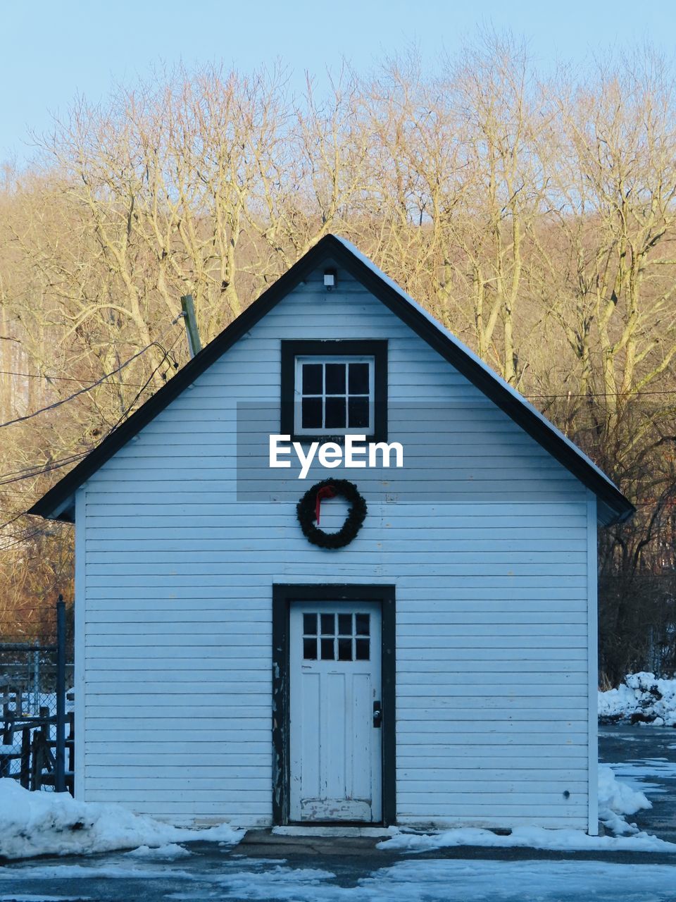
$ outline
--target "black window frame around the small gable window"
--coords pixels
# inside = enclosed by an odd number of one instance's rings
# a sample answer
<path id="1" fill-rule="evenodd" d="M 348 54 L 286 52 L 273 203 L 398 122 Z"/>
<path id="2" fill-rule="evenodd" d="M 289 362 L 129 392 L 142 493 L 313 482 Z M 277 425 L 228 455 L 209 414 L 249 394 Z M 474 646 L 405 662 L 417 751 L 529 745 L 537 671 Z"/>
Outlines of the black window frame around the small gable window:
<path id="1" fill-rule="evenodd" d="M 345 433 L 335 435 L 320 433 L 298 434 L 294 419 L 296 392 L 296 358 L 317 357 L 318 362 L 329 362 L 331 357 L 372 357 L 373 358 L 373 432 L 367 435 L 370 442 L 388 440 L 388 342 L 386 339 L 336 339 L 330 341 L 282 341 L 281 343 L 281 405 L 279 433 L 290 436 L 291 441 L 336 442 L 342 445 Z"/>

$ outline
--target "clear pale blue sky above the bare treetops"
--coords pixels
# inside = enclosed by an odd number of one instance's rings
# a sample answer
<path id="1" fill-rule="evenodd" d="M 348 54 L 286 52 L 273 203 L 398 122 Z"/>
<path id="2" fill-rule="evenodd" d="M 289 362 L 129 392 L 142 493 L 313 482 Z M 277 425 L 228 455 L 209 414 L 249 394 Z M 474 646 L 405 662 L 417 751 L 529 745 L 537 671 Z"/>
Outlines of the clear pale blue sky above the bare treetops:
<path id="1" fill-rule="evenodd" d="M 671 54 L 666 0 L 0 0 L 0 161 L 30 156 L 29 128 L 49 127 L 76 93 L 105 97 L 153 63 L 223 60 L 242 70 L 277 58 L 321 78 L 342 58 L 365 71 L 416 44 L 430 68 L 480 25 L 524 36 L 534 59 L 582 60 L 649 41 Z"/>

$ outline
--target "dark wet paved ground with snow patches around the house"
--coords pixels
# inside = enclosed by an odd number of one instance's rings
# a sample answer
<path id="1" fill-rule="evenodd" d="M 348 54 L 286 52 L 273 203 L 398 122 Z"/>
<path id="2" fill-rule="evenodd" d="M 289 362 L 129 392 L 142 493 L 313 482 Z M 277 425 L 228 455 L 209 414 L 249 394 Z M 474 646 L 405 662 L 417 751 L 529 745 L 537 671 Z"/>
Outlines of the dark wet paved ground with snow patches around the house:
<path id="1" fill-rule="evenodd" d="M 635 816 L 676 842 L 676 731 L 606 727 L 601 760 L 647 788 L 653 809 Z M 42 859 L 0 868 L 0 902 L 676 902 L 676 855 L 526 849 L 380 851 L 377 839 L 249 833 L 234 849 L 189 844 L 174 861 L 128 853 Z"/>

